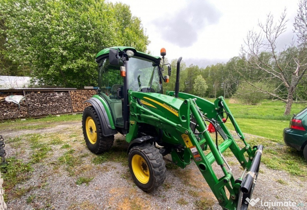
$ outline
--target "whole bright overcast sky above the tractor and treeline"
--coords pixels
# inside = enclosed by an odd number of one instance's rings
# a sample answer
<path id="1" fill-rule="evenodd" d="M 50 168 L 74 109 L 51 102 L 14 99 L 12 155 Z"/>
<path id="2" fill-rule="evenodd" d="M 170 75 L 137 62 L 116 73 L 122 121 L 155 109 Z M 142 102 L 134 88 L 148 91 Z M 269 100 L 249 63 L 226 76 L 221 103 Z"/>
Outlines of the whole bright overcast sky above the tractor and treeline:
<path id="1" fill-rule="evenodd" d="M 238 56 L 249 30 L 259 30 L 271 13 L 278 18 L 286 8 L 287 31 L 278 40 L 280 49 L 293 38 L 298 0 L 201 1 L 201 0 L 109 0 L 130 6 L 141 19 L 151 43 L 148 50 L 160 55 L 166 49 L 171 60 L 183 57 L 187 65 L 200 67 L 227 62 Z"/>

